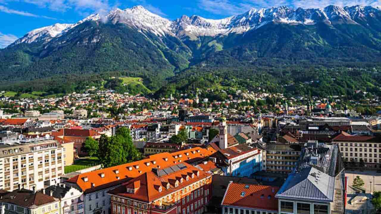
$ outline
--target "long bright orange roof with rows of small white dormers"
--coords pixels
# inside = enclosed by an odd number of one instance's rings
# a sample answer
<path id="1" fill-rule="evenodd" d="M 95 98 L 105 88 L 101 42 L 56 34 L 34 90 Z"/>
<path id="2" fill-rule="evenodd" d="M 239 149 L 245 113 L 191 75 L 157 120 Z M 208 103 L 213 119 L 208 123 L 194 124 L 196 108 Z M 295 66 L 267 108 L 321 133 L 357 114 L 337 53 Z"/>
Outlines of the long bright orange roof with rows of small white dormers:
<path id="1" fill-rule="evenodd" d="M 200 150 L 200 152 L 197 152 Z M 192 149 L 182 150 L 175 153 L 158 153 L 150 155 L 146 159 L 134 161 L 132 163 L 126 163 L 109 168 L 99 169 L 92 172 L 86 172 L 74 176 L 67 180 L 69 183 L 76 183 L 83 191 L 91 192 L 102 185 L 107 185 L 112 182 L 121 182 L 122 179 L 135 178 L 141 176 L 145 172 L 149 172 L 152 168 L 166 168 L 174 164 L 185 162 L 197 157 L 208 157 L 216 151 L 213 149 L 202 149 L 195 147 Z M 186 155 L 188 153 L 188 155 Z M 181 157 L 179 154 L 182 154 Z M 177 158 L 175 158 L 177 155 Z M 118 173 L 117 173 L 118 172 Z M 101 174 L 104 173 L 104 177 Z M 86 181 L 87 179 L 87 181 Z"/>

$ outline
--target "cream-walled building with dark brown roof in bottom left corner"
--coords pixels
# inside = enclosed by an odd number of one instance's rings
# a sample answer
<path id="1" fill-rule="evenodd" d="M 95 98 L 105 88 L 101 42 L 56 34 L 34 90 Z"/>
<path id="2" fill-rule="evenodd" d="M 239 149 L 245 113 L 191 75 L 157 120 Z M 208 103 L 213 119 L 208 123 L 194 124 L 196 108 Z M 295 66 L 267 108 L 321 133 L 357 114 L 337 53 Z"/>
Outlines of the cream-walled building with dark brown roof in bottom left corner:
<path id="1" fill-rule="evenodd" d="M 61 214 L 60 201 L 43 192 L 13 190 L 0 198 L 2 214 Z"/>

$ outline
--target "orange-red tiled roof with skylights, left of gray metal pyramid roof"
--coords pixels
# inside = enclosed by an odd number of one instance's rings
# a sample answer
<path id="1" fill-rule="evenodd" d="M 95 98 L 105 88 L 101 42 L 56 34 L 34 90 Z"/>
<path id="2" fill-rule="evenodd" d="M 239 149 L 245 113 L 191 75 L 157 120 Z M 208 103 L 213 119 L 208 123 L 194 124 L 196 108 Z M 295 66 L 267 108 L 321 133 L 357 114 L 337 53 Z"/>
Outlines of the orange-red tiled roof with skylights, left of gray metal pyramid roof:
<path id="1" fill-rule="evenodd" d="M 279 187 L 231 183 L 222 205 L 278 211 L 278 199 L 275 198 L 278 190 Z M 244 196 L 241 196 L 242 192 L 245 192 Z"/>

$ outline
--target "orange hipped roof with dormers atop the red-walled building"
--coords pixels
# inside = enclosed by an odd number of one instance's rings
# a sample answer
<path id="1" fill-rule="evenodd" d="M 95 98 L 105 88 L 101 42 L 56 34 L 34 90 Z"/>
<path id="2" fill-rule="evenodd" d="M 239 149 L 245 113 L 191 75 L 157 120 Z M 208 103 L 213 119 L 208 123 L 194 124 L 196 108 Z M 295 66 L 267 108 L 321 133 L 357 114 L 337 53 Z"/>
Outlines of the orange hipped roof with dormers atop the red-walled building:
<path id="1" fill-rule="evenodd" d="M 200 171 L 190 164 L 182 164 L 185 168 L 163 176 L 158 176 L 158 174 L 153 171 L 145 172 L 129 180 L 122 186 L 109 191 L 109 193 L 126 198 L 152 202 L 205 178 L 211 179 L 210 174 Z M 208 182 L 210 182 L 210 180 Z M 127 192 L 127 188 L 133 189 L 134 193 Z M 161 188 L 161 190 L 159 190 L 159 188 Z"/>

